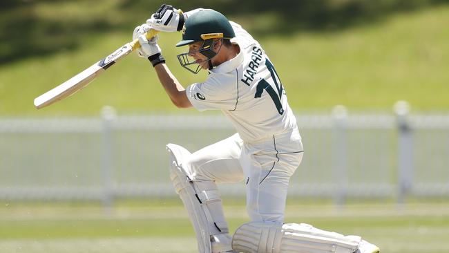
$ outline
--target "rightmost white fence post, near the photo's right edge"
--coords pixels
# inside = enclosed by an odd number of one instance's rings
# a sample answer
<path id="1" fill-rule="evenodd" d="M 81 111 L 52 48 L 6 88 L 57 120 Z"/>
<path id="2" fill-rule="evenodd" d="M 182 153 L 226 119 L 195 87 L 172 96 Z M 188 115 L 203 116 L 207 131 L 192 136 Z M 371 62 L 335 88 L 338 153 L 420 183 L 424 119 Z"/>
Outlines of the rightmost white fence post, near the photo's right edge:
<path id="1" fill-rule="evenodd" d="M 408 122 L 410 104 L 398 101 L 393 106 L 398 127 L 398 196 L 399 205 L 405 203 L 413 181 L 413 139 L 412 128 Z"/>

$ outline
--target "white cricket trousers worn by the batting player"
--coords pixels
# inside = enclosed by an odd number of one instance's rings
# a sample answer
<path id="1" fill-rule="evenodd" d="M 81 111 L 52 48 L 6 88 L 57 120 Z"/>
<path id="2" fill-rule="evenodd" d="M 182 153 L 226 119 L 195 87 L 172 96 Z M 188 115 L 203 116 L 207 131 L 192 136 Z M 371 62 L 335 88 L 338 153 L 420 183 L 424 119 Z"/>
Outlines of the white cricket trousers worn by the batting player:
<path id="1" fill-rule="evenodd" d="M 196 151 L 188 164 L 193 180 L 245 180 L 251 221 L 283 223 L 289 179 L 302 158 L 303 144 L 294 129 L 254 143 L 236 133 Z"/>

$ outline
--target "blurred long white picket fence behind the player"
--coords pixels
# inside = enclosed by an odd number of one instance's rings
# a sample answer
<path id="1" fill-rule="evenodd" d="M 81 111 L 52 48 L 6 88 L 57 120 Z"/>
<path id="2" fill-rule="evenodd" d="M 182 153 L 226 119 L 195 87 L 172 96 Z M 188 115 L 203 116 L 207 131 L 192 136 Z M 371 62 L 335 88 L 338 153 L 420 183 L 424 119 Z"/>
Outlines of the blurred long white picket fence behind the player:
<path id="1" fill-rule="evenodd" d="M 305 154 L 289 194 L 449 196 L 449 114 L 297 115 Z M 222 115 L 0 118 L 0 199 L 174 196 L 165 144 L 195 151 L 233 134 Z M 220 186 L 242 196 L 243 183 Z"/>

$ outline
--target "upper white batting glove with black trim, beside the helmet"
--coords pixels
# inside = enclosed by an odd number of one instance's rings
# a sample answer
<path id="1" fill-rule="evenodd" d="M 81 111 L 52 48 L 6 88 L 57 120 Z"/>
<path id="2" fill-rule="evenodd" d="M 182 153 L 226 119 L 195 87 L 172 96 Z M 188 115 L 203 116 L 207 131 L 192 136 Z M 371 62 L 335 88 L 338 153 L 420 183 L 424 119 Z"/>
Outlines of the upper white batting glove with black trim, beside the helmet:
<path id="1" fill-rule="evenodd" d="M 163 4 L 156 13 L 146 20 L 146 24 L 154 30 L 162 32 L 175 32 L 182 29 L 185 17 L 182 11 Z"/>

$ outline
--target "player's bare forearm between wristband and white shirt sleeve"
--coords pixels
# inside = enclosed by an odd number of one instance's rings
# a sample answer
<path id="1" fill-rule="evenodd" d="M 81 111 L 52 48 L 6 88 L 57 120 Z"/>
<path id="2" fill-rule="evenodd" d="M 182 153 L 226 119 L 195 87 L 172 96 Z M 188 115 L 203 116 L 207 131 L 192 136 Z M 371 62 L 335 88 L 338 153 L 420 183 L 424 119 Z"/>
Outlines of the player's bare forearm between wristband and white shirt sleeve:
<path id="1" fill-rule="evenodd" d="M 169 95 L 171 102 L 178 108 L 189 108 L 192 106 L 191 102 L 187 98 L 186 90 L 178 79 L 171 73 L 169 68 L 165 64 L 157 64 L 154 67 L 157 77 L 159 77 L 160 83 L 165 89 L 167 95 Z"/>

